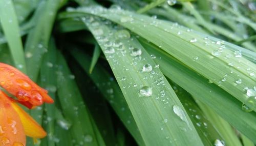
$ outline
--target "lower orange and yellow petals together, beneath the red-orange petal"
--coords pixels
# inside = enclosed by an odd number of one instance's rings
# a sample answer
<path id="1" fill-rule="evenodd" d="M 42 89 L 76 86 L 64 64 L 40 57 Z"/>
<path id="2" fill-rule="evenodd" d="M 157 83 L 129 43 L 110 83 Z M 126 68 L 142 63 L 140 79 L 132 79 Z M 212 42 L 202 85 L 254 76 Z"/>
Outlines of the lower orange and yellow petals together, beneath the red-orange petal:
<path id="1" fill-rule="evenodd" d="M 43 138 L 46 132 L 13 99 L 0 91 L 0 145 L 24 146 L 26 135 Z"/>

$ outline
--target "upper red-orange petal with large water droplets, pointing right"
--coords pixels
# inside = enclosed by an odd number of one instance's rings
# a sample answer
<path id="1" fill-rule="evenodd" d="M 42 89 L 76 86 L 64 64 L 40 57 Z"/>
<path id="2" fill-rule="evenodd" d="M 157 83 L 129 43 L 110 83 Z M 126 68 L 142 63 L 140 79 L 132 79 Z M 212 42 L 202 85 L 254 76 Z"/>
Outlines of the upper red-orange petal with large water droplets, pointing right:
<path id="1" fill-rule="evenodd" d="M 0 85 L 28 108 L 44 102 L 53 103 L 47 90 L 42 89 L 19 70 L 3 63 L 0 63 Z"/>

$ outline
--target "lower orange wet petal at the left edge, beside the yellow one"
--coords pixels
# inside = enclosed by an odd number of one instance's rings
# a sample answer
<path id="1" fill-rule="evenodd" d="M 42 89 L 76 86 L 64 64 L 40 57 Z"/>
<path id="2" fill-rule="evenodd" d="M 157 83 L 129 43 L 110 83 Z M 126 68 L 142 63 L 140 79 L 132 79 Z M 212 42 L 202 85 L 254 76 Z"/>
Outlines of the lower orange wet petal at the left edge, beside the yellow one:
<path id="1" fill-rule="evenodd" d="M 26 145 L 26 136 L 18 113 L 13 109 L 11 100 L 0 91 L 0 145 Z"/>

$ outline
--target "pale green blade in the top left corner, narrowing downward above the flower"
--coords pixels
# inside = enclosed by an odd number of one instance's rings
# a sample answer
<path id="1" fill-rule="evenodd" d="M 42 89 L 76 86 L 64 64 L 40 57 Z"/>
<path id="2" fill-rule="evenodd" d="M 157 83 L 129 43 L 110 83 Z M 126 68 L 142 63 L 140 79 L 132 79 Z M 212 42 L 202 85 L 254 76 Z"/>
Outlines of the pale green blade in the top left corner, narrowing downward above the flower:
<path id="1" fill-rule="evenodd" d="M 5 37 L 8 41 L 10 52 L 12 54 L 14 65 L 20 71 L 26 73 L 22 40 L 19 36 L 17 16 L 11 0 L 0 1 L 0 19 Z"/>

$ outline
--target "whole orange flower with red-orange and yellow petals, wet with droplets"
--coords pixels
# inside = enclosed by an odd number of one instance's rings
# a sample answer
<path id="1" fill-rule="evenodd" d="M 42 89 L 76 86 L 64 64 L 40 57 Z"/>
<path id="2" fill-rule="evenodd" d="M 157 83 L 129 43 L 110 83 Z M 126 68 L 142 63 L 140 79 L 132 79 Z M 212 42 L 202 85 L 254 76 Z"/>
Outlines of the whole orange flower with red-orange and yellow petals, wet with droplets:
<path id="1" fill-rule="evenodd" d="M 0 63 L 0 85 L 17 98 L 14 100 L 0 90 L 0 145 L 25 146 L 26 135 L 33 138 L 45 137 L 47 133 L 44 129 L 16 102 L 28 108 L 44 102 L 53 103 L 48 92 L 22 72 L 3 63 Z"/>

